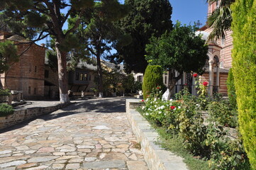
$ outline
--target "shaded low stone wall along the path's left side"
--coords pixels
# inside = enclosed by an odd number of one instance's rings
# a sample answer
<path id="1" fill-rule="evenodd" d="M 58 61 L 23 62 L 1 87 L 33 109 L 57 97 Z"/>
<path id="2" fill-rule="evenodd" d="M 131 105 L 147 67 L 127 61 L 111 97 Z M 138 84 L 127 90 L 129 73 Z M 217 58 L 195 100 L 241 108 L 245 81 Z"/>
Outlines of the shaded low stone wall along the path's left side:
<path id="1" fill-rule="evenodd" d="M 40 115 L 45 115 L 57 111 L 60 108 L 68 106 L 67 104 L 57 104 L 56 106 L 48 107 L 35 107 L 35 108 L 21 108 L 16 109 L 12 115 L 7 115 L 6 117 L 0 117 L 0 130 L 8 128 L 12 125 L 16 125 L 26 120 L 37 118 Z"/>

